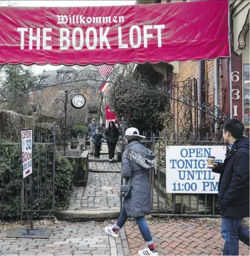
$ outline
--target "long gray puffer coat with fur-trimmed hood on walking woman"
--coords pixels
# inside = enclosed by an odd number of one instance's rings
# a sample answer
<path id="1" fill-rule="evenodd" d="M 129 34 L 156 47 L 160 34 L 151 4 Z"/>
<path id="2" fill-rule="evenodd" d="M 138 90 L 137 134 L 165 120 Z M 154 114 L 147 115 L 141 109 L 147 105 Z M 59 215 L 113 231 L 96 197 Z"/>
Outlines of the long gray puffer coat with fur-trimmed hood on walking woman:
<path id="1" fill-rule="evenodd" d="M 132 166 L 132 168 L 131 168 Z M 121 175 L 128 184 L 131 172 L 131 197 L 124 198 L 126 214 L 141 217 L 151 214 L 150 170 L 155 167 L 155 154 L 138 141 L 130 142 L 122 154 Z"/>

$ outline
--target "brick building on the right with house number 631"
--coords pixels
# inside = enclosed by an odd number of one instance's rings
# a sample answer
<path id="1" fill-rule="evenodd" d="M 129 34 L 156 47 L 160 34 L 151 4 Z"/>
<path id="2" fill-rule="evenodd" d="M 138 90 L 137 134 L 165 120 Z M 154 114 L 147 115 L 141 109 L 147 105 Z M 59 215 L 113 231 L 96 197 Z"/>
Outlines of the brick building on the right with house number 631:
<path id="1" fill-rule="evenodd" d="M 174 2 L 189 2 L 187 0 L 166 0 L 166 1 L 144 1 L 138 0 L 137 5 L 150 3 L 166 3 L 171 5 Z M 212 4 L 212 1 L 211 1 Z M 246 133 L 249 133 L 249 0 L 233 1 L 231 8 L 231 75 L 232 81 L 232 113 L 233 118 L 242 120 L 246 127 Z M 199 105 L 209 104 L 216 106 L 225 113 L 230 114 L 230 67 L 228 58 L 218 58 L 216 60 L 201 60 L 173 63 L 158 63 L 138 65 L 137 68 L 145 66 L 153 67 L 158 74 L 163 75 L 166 86 L 182 84 L 182 89 L 174 93 L 182 94 L 186 89 L 188 81 L 196 83 L 198 89 Z M 144 66 L 144 67 L 143 67 Z M 194 79 L 194 80 L 193 80 Z M 182 83 L 184 81 L 184 83 Z M 185 82 L 186 81 L 186 82 Z M 197 81 L 197 82 L 195 82 Z M 193 86 L 193 85 L 191 85 Z M 183 89 L 184 88 L 184 89 Z M 194 91 L 192 92 L 194 93 Z M 173 94 L 172 94 L 173 96 Z M 180 108 L 178 102 L 170 102 L 172 112 L 178 115 L 185 115 L 185 109 Z M 175 118 L 179 118 L 175 115 Z M 200 118 L 203 114 L 200 113 Z M 200 121 L 200 120 L 199 120 Z"/>

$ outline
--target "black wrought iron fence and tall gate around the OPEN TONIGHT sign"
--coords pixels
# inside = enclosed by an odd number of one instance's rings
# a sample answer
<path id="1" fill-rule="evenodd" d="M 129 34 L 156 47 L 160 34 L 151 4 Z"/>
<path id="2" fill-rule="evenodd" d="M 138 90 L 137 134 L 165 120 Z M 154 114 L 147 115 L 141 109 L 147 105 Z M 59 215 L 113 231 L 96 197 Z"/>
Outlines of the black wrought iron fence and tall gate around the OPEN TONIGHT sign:
<path id="1" fill-rule="evenodd" d="M 216 194 L 166 193 L 165 152 L 168 145 L 223 145 L 220 120 L 227 119 L 227 116 L 223 116 L 216 107 L 207 104 L 199 106 L 196 79 L 188 78 L 170 88 L 157 86 L 157 89 L 161 95 L 170 99 L 169 112 L 172 113 L 172 123 L 165 133 L 155 134 L 147 131 L 143 134 L 146 139 L 142 144 L 155 152 L 157 160 L 150 178 L 152 215 L 220 216 Z M 200 122 L 199 111 L 207 113 Z M 121 123 L 123 125 L 125 122 Z M 206 126 L 205 131 L 203 126 Z"/>

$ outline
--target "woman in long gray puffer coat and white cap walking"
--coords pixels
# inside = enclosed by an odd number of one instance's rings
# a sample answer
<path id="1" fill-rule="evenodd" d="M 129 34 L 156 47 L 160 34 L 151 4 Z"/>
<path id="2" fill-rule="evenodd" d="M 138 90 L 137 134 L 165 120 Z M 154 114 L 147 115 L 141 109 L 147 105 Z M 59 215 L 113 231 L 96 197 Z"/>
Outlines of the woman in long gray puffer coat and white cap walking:
<path id="1" fill-rule="evenodd" d="M 121 229 L 128 217 L 135 218 L 147 248 L 139 250 L 139 255 L 158 255 L 153 245 L 150 229 L 144 216 L 151 214 L 151 192 L 150 192 L 150 168 L 155 167 L 155 154 L 146 149 L 139 141 L 139 131 L 136 128 L 128 128 L 125 133 L 127 146 L 122 154 L 121 176 L 126 184 L 131 185 L 131 197 L 124 198 L 124 205 L 120 218 L 115 226 L 106 227 L 105 231 L 113 236 L 119 237 Z M 130 177 L 131 174 L 131 177 Z"/>

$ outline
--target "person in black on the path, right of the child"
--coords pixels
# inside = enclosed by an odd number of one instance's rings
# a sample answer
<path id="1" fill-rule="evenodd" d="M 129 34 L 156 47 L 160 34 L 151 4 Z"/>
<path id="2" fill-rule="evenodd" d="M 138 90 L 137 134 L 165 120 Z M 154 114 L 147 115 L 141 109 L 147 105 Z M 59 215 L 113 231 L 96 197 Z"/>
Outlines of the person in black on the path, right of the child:
<path id="1" fill-rule="evenodd" d="M 105 132 L 105 137 L 108 145 L 109 162 L 112 162 L 112 160 L 115 158 L 116 144 L 119 140 L 119 136 L 120 133 L 115 123 L 113 121 L 109 122 L 108 128 Z"/>

